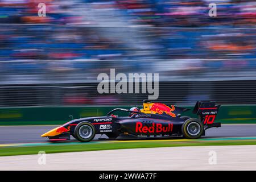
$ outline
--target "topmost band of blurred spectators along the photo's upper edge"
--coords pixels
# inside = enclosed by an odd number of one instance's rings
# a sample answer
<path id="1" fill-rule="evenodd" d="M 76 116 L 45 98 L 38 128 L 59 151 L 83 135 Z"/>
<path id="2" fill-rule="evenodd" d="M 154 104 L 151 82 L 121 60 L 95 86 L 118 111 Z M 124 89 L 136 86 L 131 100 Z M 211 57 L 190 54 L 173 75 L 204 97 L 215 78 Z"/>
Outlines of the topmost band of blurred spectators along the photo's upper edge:
<path id="1" fill-rule="evenodd" d="M 208 16 L 210 2 L 217 5 L 216 18 Z M 38 16 L 39 3 L 46 4 L 44 18 Z M 112 9 L 131 23 L 152 26 L 254 26 L 255 8 L 254 0 L 1 0 L 0 23 L 97 25 L 88 17 L 92 9 Z"/>

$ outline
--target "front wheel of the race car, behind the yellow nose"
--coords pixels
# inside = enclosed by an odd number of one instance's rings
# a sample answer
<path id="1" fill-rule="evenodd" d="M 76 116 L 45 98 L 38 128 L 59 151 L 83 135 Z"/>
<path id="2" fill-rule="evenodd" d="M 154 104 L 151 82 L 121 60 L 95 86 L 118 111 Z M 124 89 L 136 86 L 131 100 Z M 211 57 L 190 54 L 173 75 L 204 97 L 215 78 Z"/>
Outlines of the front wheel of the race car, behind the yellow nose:
<path id="1" fill-rule="evenodd" d="M 92 123 L 82 122 L 75 128 L 75 138 L 80 142 L 90 142 L 95 137 L 95 128 Z"/>

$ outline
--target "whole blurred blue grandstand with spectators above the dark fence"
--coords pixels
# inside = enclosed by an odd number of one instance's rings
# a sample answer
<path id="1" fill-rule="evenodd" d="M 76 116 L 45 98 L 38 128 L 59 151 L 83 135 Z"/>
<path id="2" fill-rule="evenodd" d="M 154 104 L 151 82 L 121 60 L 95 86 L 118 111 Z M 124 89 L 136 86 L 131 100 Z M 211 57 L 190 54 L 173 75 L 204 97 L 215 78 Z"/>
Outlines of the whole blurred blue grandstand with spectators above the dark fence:
<path id="1" fill-rule="evenodd" d="M 38 16 L 42 2 L 46 16 Z M 214 1 L 216 17 L 208 15 L 210 2 L 0 0 L 0 60 L 30 61 L 0 67 L 9 73 L 256 69 L 256 2 Z"/>

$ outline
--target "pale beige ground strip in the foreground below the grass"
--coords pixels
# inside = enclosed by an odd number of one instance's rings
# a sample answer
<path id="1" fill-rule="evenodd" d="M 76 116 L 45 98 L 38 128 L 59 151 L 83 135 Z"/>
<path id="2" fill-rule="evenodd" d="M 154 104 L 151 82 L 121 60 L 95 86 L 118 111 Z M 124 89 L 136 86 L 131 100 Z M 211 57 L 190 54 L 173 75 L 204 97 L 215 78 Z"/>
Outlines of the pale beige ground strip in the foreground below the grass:
<path id="1" fill-rule="evenodd" d="M 39 155 L 4 156 L 0 170 L 256 170 L 255 152 L 255 145 L 64 152 L 46 154 L 44 165 L 38 163 Z"/>

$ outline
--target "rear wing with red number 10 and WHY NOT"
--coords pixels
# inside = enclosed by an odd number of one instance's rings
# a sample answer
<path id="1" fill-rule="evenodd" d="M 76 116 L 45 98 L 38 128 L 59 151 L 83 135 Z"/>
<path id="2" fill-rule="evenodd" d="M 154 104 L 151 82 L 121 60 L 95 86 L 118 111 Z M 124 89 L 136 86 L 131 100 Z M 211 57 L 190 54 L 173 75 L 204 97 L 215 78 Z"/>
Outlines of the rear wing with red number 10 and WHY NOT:
<path id="1" fill-rule="evenodd" d="M 215 105 L 213 101 L 197 101 L 193 109 L 193 113 L 199 116 L 201 122 L 208 127 L 218 127 L 213 126 L 216 115 L 218 114 L 218 109 L 221 105 Z M 216 123 L 217 124 L 217 123 Z M 212 126 L 211 126 L 212 125 Z M 220 124 L 218 124 L 220 125 Z"/>

